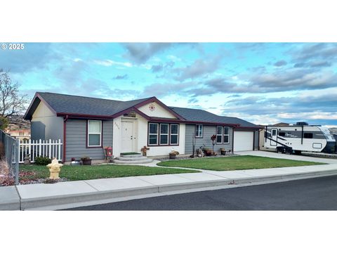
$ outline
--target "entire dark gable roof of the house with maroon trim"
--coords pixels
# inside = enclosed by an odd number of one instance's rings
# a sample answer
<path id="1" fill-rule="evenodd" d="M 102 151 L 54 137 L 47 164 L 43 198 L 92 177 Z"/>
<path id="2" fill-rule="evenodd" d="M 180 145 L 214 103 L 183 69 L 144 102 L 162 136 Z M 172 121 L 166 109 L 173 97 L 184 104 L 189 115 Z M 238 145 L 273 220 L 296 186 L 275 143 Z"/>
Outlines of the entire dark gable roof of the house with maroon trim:
<path id="1" fill-rule="evenodd" d="M 130 110 L 135 110 L 137 113 L 149 120 L 160 120 L 156 117 L 149 117 L 137 109 L 143 105 L 146 105 L 147 103 L 156 102 L 177 117 L 177 119 L 170 119 L 173 121 L 187 123 L 199 122 L 201 124 L 227 124 L 231 126 L 239 126 L 239 128 L 242 129 L 259 128 L 259 126 L 256 126 L 250 122 L 246 122 L 245 120 L 239 119 L 237 117 L 219 116 L 199 109 L 169 107 L 158 100 L 156 97 L 121 101 L 49 92 L 35 93 L 32 103 L 29 105 L 29 108 L 25 113 L 25 119 L 32 119 L 32 115 L 41 101 L 43 101 L 46 106 L 58 116 L 69 115 L 72 117 L 81 118 L 94 117 L 101 119 L 112 119 L 114 117 L 119 117 Z"/>

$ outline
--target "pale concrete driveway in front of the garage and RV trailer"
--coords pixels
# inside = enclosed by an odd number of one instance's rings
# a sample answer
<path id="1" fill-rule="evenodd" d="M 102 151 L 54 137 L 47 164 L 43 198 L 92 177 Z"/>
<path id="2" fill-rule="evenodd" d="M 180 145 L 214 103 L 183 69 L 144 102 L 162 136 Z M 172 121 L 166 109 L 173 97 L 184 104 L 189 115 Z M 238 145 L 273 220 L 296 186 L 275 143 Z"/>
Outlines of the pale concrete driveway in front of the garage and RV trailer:
<path id="1" fill-rule="evenodd" d="M 289 160 L 298 160 L 298 161 L 308 161 L 308 162 L 324 162 L 327 164 L 337 164 L 337 159 L 329 159 L 329 158 L 320 158 L 320 157 L 308 157 L 303 155 L 286 155 L 275 152 L 268 151 L 238 151 L 234 152 L 237 155 L 255 155 L 260 157 L 271 157 L 271 158 L 279 158 L 279 159 L 289 159 Z"/>

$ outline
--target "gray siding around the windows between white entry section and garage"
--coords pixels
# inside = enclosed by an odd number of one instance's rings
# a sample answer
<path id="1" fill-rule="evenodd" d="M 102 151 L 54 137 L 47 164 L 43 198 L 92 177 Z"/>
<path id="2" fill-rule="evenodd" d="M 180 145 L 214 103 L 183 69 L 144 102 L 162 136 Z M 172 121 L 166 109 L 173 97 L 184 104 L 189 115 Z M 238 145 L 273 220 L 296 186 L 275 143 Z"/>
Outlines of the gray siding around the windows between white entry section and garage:
<path id="1" fill-rule="evenodd" d="M 211 136 L 216 134 L 216 126 L 206 126 L 204 125 L 203 138 L 195 138 L 195 149 L 198 149 L 201 145 L 205 145 L 207 148 L 212 148 Z M 192 154 L 192 138 L 194 137 L 194 124 L 186 124 L 185 132 L 185 154 Z M 232 136 L 233 129 L 230 127 L 230 143 L 228 144 L 216 144 L 214 145 L 214 152 L 220 152 L 220 148 L 225 148 L 226 150 L 233 150 L 232 148 Z"/>

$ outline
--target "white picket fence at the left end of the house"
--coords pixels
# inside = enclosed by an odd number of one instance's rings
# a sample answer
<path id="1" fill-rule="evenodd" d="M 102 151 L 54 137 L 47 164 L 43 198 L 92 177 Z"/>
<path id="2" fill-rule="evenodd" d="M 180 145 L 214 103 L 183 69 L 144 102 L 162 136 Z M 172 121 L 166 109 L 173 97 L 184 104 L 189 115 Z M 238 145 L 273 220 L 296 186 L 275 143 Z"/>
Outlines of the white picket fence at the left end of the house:
<path id="1" fill-rule="evenodd" d="M 35 157 L 56 157 L 62 160 L 62 143 L 61 140 L 21 140 L 19 145 L 20 157 L 19 163 L 25 161 L 26 155 L 30 154 L 30 161 L 34 162 Z"/>

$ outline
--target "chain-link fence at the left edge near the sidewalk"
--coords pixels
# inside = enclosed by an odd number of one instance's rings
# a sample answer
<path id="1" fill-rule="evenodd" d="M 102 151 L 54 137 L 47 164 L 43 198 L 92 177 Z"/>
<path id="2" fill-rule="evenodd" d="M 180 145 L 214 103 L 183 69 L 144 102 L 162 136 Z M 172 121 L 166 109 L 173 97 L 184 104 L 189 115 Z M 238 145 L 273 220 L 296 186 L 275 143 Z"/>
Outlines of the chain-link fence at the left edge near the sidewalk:
<path id="1" fill-rule="evenodd" d="M 9 176 L 14 179 L 15 185 L 19 184 L 19 139 L 15 139 L 0 130 L 0 156 L 6 161 Z"/>

